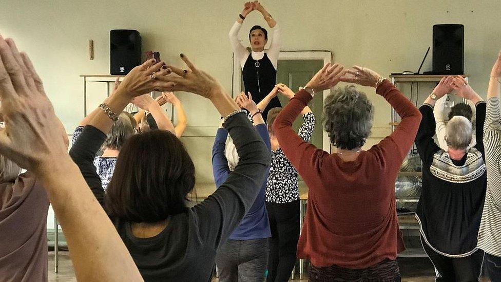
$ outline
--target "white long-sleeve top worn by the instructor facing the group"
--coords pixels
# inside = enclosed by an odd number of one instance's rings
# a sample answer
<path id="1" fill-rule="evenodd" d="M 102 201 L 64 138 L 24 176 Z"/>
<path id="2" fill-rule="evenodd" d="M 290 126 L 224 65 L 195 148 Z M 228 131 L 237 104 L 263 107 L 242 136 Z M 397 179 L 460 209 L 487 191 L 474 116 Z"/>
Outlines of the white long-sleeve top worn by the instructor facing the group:
<path id="1" fill-rule="evenodd" d="M 235 21 L 235 24 L 233 24 L 232 29 L 229 30 L 229 42 L 232 43 L 232 48 L 233 48 L 233 53 L 235 54 L 235 58 L 237 58 L 237 61 L 240 62 L 240 67 L 243 69 L 243 66 L 245 65 L 245 61 L 247 61 L 247 58 L 249 56 L 249 51 L 247 51 L 247 48 L 245 48 L 242 43 L 238 40 L 238 32 L 240 31 L 240 28 L 242 27 L 242 24 Z M 273 30 L 273 38 L 272 41 L 269 44 L 269 49 L 263 50 L 261 52 L 254 52 L 252 51 L 252 59 L 254 60 L 261 60 L 264 57 L 264 53 L 268 55 L 268 59 L 272 61 L 273 66 L 275 69 L 277 69 L 277 64 L 278 64 L 278 54 L 280 53 L 280 44 L 281 44 L 281 32 L 280 28 L 277 25 L 272 28 Z M 269 36 L 268 36 L 269 38 Z"/>

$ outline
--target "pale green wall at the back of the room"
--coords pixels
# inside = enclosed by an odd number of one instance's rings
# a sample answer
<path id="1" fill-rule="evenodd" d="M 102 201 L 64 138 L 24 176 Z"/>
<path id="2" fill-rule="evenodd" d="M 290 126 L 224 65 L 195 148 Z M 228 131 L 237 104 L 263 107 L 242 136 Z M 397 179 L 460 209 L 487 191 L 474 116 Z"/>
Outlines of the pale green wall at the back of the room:
<path id="1" fill-rule="evenodd" d="M 154 3 L 154 4 L 153 4 Z M 485 97 L 489 70 L 501 48 L 499 1 L 264 1 L 283 31 L 283 50 L 330 50 L 335 60 L 361 64 L 388 76 L 416 70 L 431 45 L 432 25 L 465 25 L 465 69 L 471 85 Z M 137 29 L 143 50 L 159 50 L 167 62 L 181 64 L 184 52 L 230 91 L 232 50 L 227 33 L 241 1 L 17 1 L 0 0 L 0 33 L 14 37 L 29 53 L 45 83 L 57 115 L 71 132 L 83 117 L 79 74 L 109 73 L 109 30 Z M 241 39 L 257 12 L 248 16 Z M 88 60 L 94 40 L 95 59 Z M 431 54 L 430 54 L 431 55 Z M 423 70 L 431 70 L 431 56 Z M 101 89 L 104 90 L 104 87 Z M 101 91 L 103 91 L 101 90 Z M 102 100 L 91 93 L 89 107 Z M 428 90 L 426 90 L 428 91 Z M 95 92 L 95 90 L 94 90 Z M 372 95 L 376 137 L 388 132 L 389 106 Z M 200 182 L 211 182 L 210 134 L 219 115 L 207 101 L 182 93 L 191 135 L 184 137 Z M 376 142 L 369 140 L 369 143 Z"/>

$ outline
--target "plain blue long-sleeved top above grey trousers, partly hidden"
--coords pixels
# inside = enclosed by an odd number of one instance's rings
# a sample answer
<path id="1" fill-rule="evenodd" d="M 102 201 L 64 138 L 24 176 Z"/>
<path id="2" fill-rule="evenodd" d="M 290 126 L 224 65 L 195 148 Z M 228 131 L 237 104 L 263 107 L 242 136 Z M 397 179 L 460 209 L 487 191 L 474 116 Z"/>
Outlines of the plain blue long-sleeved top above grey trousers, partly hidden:
<path id="1" fill-rule="evenodd" d="M 256 125 L 256 130 L 266 144 L 266 147 L 271 151 L 271 143 L 269 141 L 269 134 L 266 128 L 266 124 Z M 219 128 L 216 133 L 216 140 L 214 141 L 214 146 L 212 148 L 212 170 L 214 174 L 214 180 L 216 181 L 216 186 L 219 188 L 221 184 L 226 181 L 230 174 L 228 167 L 228 160 L 224 156 L 224 149 L 226 146 L 226 138 L 228 137 L 228 131 L 224 128 Z M 238 165 L 237 165 L 238 166 Z M 254 200 L 251 209 L 244 216 L 238 227 L 233 231 L 232 235 L 229 236 L 233 240 L 251 240 L 251 239 L 263 239 L 272 236 L 269 231 L 269 220 L 268 213 L 266 212 L 266 206 L 264 204 L 264 197 L 266 193 L 266 179 L 268 178 L 269 166 L 266 169 L 264 181 L 261 185 L 261 190 Z"/>

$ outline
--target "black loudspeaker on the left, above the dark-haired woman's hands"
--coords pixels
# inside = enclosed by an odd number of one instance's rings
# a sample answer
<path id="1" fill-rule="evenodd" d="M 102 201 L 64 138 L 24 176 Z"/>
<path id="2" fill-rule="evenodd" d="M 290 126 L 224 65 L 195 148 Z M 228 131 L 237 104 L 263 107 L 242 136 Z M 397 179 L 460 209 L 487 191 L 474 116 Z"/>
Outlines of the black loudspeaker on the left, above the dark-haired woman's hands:
<path id="1" fill-rule="evenodd" d="M 110 31 L 110 74 L 125 75 L 141 65 L 141 36 L 137 30 Z"/>

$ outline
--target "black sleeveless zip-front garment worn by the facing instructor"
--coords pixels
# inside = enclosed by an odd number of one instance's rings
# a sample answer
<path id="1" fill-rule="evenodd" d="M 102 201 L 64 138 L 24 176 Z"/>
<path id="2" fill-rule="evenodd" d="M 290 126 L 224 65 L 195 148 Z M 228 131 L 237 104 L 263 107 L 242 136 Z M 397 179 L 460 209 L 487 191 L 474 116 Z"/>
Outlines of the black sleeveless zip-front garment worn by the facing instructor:
<path id="1" fill-rule="evenodd" d="M 251 92 L 252 100 L 258 104 L 275 87 L 277 70 L 273 67 L 272 61 L 268 59 L 266 53 L 261 60 L 257 61 L 252 58 L 252 53 L 250 53 L 243 66 L 242 77 L 245 93 Z M 269 109 L 281 106 L 278 97 L 273 98 L 263 111 L 264 121 L 266 122 Z"/>

